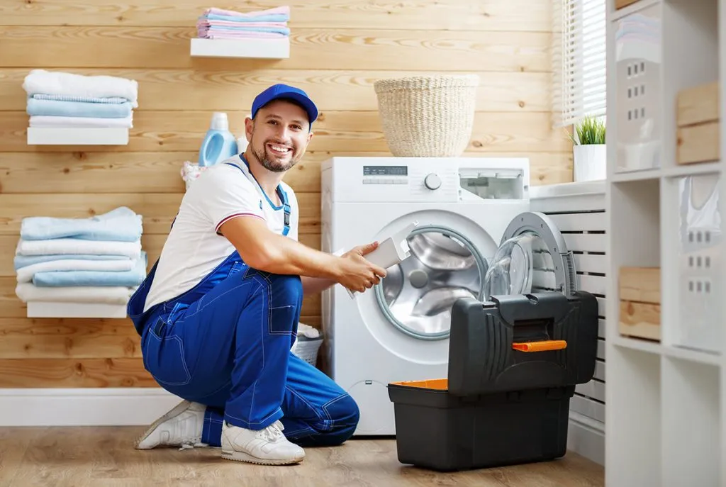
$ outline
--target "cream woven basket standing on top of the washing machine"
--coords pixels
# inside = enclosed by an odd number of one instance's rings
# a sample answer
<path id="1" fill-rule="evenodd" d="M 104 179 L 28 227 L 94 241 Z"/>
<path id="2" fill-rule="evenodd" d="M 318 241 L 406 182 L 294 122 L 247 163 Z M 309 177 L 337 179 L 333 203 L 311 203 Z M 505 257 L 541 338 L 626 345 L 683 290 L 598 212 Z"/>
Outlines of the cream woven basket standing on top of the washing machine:
<path id="1" fill-rule="evenodd" d="M 373 84 L 388 149 L 397 157 L 458 157 L 471 137 L 478 75 L 384 79 Z"/>

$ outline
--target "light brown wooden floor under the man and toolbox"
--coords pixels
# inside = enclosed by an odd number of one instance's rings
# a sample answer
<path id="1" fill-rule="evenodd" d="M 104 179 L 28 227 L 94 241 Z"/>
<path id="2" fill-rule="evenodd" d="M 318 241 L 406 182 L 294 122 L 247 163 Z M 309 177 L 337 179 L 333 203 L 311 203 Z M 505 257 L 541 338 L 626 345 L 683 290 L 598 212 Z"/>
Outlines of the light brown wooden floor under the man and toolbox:
<path id="1" fill-rule="evenodd" d="M 230 462 L 218 449 L 137 451 L 142 427 L 0 428 L 0 486 L 136 487 L 586 487 L 603 486 L 603 467 L 576 454 L 555 462 L 437 473 L 401 465 L 392 440 L 351 440 L 306 449 L 300 465 Z"/>

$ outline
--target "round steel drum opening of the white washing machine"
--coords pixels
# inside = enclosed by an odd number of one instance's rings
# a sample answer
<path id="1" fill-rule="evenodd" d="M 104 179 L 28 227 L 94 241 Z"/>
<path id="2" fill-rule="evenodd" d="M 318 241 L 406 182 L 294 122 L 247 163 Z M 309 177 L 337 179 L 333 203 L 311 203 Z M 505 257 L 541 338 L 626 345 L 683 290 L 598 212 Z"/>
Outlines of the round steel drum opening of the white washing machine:
<path id="1" fill-rule="evenodd" d="M 401 332 L 420 340 L 449 337 L 451 308 L 459 298 L 481 300 L 486 258 L 464 234 L 439 225 L 414 229 L 409 258 L 375 286 L 378 306 Z"/>

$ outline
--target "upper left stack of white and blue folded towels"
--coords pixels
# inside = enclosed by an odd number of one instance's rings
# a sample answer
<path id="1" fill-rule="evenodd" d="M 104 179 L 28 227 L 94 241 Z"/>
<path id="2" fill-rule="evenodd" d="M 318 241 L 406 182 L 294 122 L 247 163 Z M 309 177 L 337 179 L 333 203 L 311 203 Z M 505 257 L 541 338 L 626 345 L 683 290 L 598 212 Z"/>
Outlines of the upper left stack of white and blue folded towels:
<path id="1" fill-rule="evenodd" d="M 107 75 L 31 70 L 28 94 L 31 127 L 133 127 L 139 83 Z"/>

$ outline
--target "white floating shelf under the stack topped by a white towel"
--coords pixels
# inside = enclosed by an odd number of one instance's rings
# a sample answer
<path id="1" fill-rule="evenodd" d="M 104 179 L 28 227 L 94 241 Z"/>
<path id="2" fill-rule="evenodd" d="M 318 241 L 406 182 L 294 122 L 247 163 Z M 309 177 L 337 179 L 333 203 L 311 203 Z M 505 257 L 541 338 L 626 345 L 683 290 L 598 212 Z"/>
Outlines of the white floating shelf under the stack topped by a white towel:
<path id="1" fill-rule="evenodd" d="M 124 127 L 28 127 L 28 145 L 126 145 Z"/>

